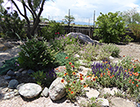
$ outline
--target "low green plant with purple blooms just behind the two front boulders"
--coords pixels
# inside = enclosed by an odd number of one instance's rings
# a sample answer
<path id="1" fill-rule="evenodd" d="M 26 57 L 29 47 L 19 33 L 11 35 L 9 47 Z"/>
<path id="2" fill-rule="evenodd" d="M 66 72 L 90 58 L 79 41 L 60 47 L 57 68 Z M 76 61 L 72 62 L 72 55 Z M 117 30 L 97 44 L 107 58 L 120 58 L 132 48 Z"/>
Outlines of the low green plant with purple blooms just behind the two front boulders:
<path id="1" fill-rule="evenodd" d="M 44 71 L 37 71 L 34 72 L 31 76 L 35 78 L 37 84 L 41 85 L 42 87 L 48 88 L 53 80 L 56 79 L 56 74 L 53 70 L 47 73 Z"/>

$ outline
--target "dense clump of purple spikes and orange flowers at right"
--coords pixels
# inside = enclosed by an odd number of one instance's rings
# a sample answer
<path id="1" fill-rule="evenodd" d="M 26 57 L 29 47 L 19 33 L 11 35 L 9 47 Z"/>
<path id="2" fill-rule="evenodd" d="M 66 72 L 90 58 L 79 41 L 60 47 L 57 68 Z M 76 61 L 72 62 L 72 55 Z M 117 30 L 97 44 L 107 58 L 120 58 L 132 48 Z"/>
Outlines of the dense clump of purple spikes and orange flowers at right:
<path id="1" fill-rule="evenodd" d="M 127 93 L 138 96 L 139 73 L 134 69 L 123 68 L 118 65 L 111 65 L 109 61 L 92 65 L 92 74 L 95 82 L 104 87 L 118 87 Z"/>

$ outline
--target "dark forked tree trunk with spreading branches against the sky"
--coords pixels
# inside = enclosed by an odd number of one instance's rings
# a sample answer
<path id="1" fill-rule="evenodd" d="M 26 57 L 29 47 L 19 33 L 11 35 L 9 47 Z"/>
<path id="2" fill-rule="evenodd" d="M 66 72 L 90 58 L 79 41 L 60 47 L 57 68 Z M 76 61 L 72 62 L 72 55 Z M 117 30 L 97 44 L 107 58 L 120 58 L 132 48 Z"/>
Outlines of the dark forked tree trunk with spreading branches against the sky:
<path id="1" fill-rule="evenodd" d="M 31 35 L 34 36 L 35 30 L 40 22 L 40 16 L 43 11 L 43 7 L 46 0 L 17 0 L 22 3 L 23 12 L 21 11 L 21 7 L 17 5 L 16 0 L 9 0 L 11 1 L 16 9 L 18 10 L 19 14 L 24 17 L 27 22 L 27 36 L 31 38 Z M 33 26 L 30 25 L 29 17 L 27 16 L 27 12 L 30 12 L 33 17 Z"/>

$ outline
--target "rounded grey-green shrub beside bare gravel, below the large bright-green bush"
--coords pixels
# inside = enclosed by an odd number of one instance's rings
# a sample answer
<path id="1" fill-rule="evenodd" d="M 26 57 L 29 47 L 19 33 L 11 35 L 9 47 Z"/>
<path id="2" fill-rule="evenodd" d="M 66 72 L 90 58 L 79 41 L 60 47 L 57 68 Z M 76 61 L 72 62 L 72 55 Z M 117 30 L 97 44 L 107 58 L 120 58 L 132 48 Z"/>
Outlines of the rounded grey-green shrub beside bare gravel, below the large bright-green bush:
<path id="1" fill-rule="evenodd" d="M 111 56 L 118 57 L 120 54 L 120 49 L 114 44 L 105 44 L 102 47 L 104 52 L 109 52 Z"/>

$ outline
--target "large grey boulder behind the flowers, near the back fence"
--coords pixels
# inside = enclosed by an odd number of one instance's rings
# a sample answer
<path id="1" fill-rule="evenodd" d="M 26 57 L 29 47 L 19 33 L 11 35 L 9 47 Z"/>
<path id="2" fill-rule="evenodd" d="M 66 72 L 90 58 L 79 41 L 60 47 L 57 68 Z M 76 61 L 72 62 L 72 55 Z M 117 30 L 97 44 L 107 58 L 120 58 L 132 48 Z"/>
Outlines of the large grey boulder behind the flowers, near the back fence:
<path id="1" fill-rule="evenodd" d="M 78 33 L 78 32 L 76 32 L 76 33 L 70 32 L 69 34 L 67 34 L 67 36 L 74 37 L 74 38 L 76 38 L 78 36 L 79 41 L 82 43 L 100 44 L 98 41 L 92 40 L 88 35 Z"/>

